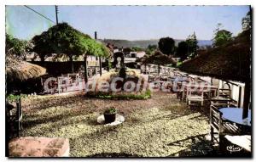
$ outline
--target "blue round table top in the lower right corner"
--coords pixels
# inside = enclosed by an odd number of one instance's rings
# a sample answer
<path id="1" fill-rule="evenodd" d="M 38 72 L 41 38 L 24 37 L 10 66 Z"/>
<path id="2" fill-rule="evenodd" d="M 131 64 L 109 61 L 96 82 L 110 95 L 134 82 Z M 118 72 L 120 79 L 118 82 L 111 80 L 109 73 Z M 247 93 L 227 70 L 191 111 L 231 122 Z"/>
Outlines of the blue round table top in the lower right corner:
<path id="1" fill-rule="evenodd" d="M 242 119 L 242 108 L 222 108 L 222 117 L 242 126 L 251 126 L 251 109 L 248 109 L 248 117 Z"/>

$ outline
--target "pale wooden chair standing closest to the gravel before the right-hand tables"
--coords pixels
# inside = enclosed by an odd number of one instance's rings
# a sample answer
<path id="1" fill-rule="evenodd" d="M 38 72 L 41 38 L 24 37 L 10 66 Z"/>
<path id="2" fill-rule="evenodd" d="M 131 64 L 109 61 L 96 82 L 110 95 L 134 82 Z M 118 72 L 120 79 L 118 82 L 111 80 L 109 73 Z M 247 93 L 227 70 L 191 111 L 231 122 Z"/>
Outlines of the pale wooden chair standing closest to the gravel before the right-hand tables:
<path id="1" fill-rule="evenodd" d="M 204 92 L 196 90 L 187 89 L 187 104 L 190 106 L 191 102 L 201 103 L 201 106 L 204 104 Z"/>

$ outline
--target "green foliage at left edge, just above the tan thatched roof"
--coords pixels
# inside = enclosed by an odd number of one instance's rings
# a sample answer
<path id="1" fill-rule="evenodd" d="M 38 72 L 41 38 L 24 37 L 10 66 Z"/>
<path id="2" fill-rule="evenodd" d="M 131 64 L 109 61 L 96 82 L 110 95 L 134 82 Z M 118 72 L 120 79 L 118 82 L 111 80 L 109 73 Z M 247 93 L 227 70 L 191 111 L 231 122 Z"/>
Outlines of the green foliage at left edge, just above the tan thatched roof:
<path id="1" fill-rule="evenodd" d="M 28 42 L 20 40 L 9 34 L 5 35 L 5 53 L 16 58 L 26 59 L 26 52 L 28 50 Z"/>

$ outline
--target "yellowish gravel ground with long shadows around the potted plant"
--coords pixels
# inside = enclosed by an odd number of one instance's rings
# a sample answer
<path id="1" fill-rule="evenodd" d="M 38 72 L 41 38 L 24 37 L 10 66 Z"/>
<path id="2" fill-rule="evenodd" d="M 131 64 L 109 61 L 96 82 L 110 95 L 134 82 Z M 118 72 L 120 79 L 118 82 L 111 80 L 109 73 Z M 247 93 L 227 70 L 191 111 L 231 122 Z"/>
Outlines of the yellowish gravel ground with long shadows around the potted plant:
<path id="1" fill-rule="evenodd" d="M 22 136 L 66 137 L 73 157 L 168 157 L 212 154 L 208 118 L 176 94 L 154 92 L 147 100 L 85 98 L 82 93 L 23 100 Z M 114 106 L 125 122 L 102 126 L 96 118 Z"/>

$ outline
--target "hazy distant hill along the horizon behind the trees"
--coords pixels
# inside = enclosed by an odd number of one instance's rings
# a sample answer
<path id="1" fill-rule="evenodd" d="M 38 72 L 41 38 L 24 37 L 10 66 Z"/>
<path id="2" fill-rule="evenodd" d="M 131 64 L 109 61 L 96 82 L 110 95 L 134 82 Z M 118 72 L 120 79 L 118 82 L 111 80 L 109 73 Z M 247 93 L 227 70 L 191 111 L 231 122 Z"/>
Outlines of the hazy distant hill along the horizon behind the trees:
<path id="1" fill-rule="evenodd" d="M 157 45 L 159 42 L 159 39 L 149 39 L 149 40 L 139 40 L 139 41 L 128 41 L 128 40 L 119 40 L 119 39 L 103 39 L 100 40 L 104 43 L 112 43 L 117 47 L 142 47 L 146 48 L 148 45 Z M 178 42 L 181 42 L 184 40 L 175 40 L 175 44 L 177 46 Z M 198 40 L 198 46 L 211 46 L 212 41 L 211 40 Z"/>

